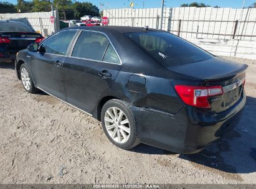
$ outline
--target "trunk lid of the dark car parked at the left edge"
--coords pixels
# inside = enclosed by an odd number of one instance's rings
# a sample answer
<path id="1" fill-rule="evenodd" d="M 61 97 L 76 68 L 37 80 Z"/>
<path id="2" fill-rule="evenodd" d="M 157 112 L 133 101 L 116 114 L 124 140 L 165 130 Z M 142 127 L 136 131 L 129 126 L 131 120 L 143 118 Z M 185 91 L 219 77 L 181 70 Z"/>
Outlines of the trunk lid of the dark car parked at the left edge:
<path id="1" fill-rule="evenodd" d="M 10 50 L 21 50 L 35 42 L 37 37 L 42 35 L 36 32 L 0 32 L 0 36 L 8 37 L 11 44 L 6 44 Z"/>

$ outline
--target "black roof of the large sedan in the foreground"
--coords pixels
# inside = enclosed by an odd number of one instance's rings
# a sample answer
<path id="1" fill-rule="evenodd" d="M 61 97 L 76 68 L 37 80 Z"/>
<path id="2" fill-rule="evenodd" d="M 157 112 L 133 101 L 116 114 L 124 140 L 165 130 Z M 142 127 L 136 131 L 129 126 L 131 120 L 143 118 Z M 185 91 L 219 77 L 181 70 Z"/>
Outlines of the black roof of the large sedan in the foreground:
<path id="1" fill-rule="evenodd" d="M 133 33 L 133 32 L 164 32 L 163 30 L 156 30 L 156 29 L 143 29 L 143 27 L 130 27 L 130 26 L 95 26 L 95 27 L 86 27 L 86 26 L 78 26 L 78 27 L 67 27 L 63 30 L 70 30 L 70 29 L 85 29 L 85 30 L 94 30 L 98 32 L 119 32 L 121 34 L 126 34 L 126 33 Z"/>

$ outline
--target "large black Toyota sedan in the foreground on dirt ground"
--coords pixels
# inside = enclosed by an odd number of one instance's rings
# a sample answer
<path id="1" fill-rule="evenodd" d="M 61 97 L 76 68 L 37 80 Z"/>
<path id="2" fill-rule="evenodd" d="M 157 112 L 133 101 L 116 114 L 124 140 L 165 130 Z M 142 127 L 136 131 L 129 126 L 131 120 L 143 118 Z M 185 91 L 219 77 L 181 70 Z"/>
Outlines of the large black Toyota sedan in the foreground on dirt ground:
<path id="1" fill-rule="evenodd" d="M 45 91 L 102 121 L 116 146 L 141 142 L 182 154 L 237 124 L 246 68 L 147 27 L 72 27 L 16 58 L 27 92 Z"/>

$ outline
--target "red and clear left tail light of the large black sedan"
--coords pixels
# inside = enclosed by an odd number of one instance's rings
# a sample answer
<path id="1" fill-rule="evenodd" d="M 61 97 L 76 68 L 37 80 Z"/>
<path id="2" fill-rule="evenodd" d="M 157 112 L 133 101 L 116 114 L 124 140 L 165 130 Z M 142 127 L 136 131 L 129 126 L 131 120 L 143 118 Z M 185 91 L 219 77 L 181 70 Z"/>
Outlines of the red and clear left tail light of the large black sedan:
<path id="1" fill-rule="evenodd" d="M 208 97 L 223 94 L 222 86 L 176 85 L 175 90 L 185 104 L 199 108 L 211 108 Z"/>

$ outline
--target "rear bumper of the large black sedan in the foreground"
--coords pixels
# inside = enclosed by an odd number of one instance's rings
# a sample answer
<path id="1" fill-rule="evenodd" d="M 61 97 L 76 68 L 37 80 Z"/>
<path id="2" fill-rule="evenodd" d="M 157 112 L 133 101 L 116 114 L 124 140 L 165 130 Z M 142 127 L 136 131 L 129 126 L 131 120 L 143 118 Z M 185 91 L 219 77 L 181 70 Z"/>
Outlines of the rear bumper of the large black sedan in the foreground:
<path id="1" fill-rule="evenodd" d="M 180 154 L 193 154 L 204 149 L 234 129 L 242 116 L 245 93 L 231 108 L 222 113 L 184 106 L 176 114 L 134 107 L 144 144 Z"/>

